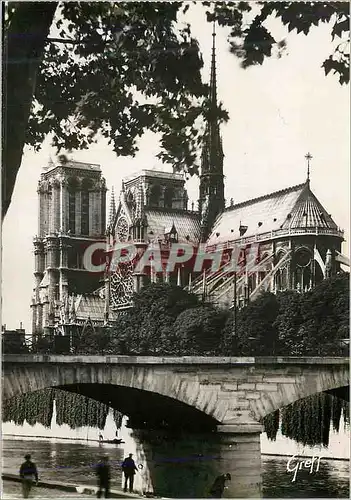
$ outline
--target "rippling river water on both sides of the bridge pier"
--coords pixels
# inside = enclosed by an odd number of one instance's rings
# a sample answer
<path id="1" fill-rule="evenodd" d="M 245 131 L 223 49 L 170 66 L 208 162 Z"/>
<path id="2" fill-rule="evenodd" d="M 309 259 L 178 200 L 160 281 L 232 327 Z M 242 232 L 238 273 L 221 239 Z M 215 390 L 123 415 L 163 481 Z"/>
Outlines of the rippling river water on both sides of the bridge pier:
<path id="1" fill-rule="evenodd" d="M 120 488 L 120 463 L 129 452 L 122 446 L 86 441 L 5 438 L 3 472 L 17 473 L 22 457 L 29 451 L 33 453 L 41 479 L 95 485 L 93 466 L 103 451 L 109 454 L 111 460 L 112 487 Z M 295 482 L 292 482 L 292 474 L 286 472 L 287 461 L 288 457 L 262 457 L 265 498 L 349 498 L 348 461 L 321 459 L 318 472 L 311 475 L 308 470 L 301 470 Z M 138 474 L 142 476 L 144 470 Z"/>

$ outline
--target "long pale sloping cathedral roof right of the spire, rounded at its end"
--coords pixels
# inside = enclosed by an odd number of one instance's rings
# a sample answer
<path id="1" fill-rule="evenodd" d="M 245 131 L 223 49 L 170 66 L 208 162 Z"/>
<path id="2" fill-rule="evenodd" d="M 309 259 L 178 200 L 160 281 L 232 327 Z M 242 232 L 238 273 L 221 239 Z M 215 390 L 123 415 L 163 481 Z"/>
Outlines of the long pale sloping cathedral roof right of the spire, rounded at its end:
<path id="1" fill-rule="evenodd" d="M 285 232 L 316 228 L 339 233 L 337 225 L 306 182 L 227 208 L 218 216 L 207 244 L 223 244 L 256 236 L 271 239 L 272 232 L 284 236 Z"/>

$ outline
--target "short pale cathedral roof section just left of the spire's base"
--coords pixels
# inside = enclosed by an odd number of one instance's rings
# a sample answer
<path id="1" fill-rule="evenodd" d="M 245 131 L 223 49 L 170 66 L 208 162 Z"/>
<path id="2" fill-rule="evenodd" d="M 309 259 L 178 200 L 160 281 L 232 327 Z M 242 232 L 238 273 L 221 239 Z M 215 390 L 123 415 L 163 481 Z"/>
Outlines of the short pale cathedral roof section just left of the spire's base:
<path id="1" fill-rule="evenodd" d="M 178 241 L 198 242 L 200 221 L 197 212 L 184 210 L 146 209 L 148 236 L 150 240 L 163 239 L 173 225 L 178 234 Z M 151 234 L 150 234 L 151 233 Z"/>

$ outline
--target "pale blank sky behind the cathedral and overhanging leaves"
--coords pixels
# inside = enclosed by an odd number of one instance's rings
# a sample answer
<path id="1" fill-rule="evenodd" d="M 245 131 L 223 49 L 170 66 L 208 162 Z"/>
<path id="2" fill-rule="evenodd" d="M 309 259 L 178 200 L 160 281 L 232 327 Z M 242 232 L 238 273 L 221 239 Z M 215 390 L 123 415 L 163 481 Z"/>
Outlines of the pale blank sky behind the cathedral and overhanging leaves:
<path id="1" fill-rule="evenodd" d="M 204 78 L 209 79 L 211 29 L 201 6 L 191 7 L 187 20 L 199 40 Z M 287 35 L 272 24 L 277 38 Z M 333 50 L 330 27 L 289 34 L 284 55 L 262 66 L 242 69 L 229 52 L 227 31 L 217 29 L 218 96 L 229 112 L 222 125 L 226 199 L 244 201 L 300 184 L 306 179 L 305 155 L 311 152 L 311 188 L 334 221 L 345 230 L 343 253 L 349 255 L 349 87 L 321 65 Z M 135 158 L 116 157 L 103 139 L 89 150 L 74 151 L 77 161 L 101 165 L 107 186 L 119 192 L 121 180 L 141 169 L 172 171 L 157 159 L 158 137 L 147 133 Z M 34 285 L 33 237 L 37 234 L 37 183 L 55 150 L 46 141 L 40 152 L 26 148 L 2 234 L 2 324 L 31 331 L 30 302 Z M 187 183 L 190 201 L 197 201 L 198 180 Z M 110 192 L 107 193 L 107 207 Z M 196 206 L 196 205 L 195 205 Z"/>

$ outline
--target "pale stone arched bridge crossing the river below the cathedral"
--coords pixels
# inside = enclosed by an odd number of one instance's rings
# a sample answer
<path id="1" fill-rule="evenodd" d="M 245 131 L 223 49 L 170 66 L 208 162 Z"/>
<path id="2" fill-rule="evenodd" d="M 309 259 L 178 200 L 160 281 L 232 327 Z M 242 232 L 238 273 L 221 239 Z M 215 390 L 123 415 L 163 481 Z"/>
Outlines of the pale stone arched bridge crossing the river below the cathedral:
<path id="1" fill-rule="evenodd" d="M 4 355 L 3 398 L 47 387 L 119 409 L 133 427 L 166 422 L 221 435 L 219 470 L 231 497 L 261 491 L 261 419 L 322 391 L 349 386 L 349 358 Z M 345 390 L 345 394 L 348 391 Z"/>

